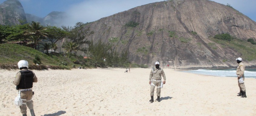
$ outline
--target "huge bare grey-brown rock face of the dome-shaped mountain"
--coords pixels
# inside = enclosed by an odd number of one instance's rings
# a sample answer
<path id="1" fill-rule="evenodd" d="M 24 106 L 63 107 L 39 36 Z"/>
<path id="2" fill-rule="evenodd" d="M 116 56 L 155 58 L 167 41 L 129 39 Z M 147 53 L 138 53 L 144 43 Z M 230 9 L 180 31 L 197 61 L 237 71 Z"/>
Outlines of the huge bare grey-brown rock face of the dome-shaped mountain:
<path id="1" fill-rule="evenodd" d="M 126 27 L 128 22 L 139 25 Z M 220 46 L 213 50 L 207 44 L 213 42 L 208 37 L 229 33 L 243 40 L 256 38 L 256 22 L 231 7 L 208 0 L 155 2 L 101 18 L 85 25 L 88 27 L 95 31 L 88 39 L 109 42 L 110 38 L 118 38 L 114 46 L 119 51 L 128 50 L 131 62 L 151 66 L 160 61 L 162 66 L 176 68 L 235 66 L 239 53 Z"/>

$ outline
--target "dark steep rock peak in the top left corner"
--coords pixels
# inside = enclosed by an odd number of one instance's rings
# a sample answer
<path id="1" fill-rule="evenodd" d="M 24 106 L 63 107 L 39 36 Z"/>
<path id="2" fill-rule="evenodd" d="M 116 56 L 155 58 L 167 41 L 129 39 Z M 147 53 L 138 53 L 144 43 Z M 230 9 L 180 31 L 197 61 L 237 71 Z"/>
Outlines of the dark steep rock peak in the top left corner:
<path id="1" fill-rule="evenodd" d="M 26 15 L 18 0 L 7 0 L 0 4 L 0 24 L 20 24 L 19 20 L 26 20 Z"/>

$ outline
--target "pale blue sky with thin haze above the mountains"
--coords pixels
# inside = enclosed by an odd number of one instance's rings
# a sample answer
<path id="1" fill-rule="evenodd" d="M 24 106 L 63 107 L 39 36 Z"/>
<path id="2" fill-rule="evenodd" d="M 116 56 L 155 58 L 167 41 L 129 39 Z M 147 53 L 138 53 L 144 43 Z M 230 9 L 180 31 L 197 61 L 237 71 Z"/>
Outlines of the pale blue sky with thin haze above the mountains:
<path id="1" fill-rule="evenodd" d="M 6 0 L 0 0 L 0 4 Z M 131 8 L 165 0 L 19 0 L 25 13 L 45 17 L 50 12 L 67 12 L 70 26 L 76 22 L 93 22 Z M 256 0 L 211 0 L 234 9 L 256 22 Z"/>

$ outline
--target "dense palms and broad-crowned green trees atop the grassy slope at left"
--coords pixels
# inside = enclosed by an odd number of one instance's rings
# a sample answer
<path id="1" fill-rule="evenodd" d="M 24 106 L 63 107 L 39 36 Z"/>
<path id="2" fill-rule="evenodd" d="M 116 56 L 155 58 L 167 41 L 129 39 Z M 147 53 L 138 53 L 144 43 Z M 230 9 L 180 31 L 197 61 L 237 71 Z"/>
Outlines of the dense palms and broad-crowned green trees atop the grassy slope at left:
<path id="1" fill-rule="evenodd" d="M 44 27 L 33 21 L 22 25 L 0 25 L 0 43 L 20 41 L 23 45 L 37 50 L 41 47 L 45 50 L 56 50 L 55 43 L 67 35 L 69 33 L 61 28 L 48 25 Z"/>

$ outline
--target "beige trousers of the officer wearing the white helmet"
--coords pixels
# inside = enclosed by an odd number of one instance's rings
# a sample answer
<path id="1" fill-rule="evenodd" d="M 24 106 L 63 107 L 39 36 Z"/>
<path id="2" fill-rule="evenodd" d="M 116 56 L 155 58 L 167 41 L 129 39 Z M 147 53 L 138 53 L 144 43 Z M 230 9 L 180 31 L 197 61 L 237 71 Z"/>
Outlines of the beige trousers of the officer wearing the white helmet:
<path id="1" fill-rule="evenodd" d="M 20 97 L 22 99 L 26 99 L 26 101 L 22 100 L 23 104 L 22 104 L 22 106 L 20 106 L 20 111 L 22 114 L 27 113 L 27 106 L 28 106 L 28 109 L 33 109 L 34 105 L 33 105 L 33 101 L 32 101 L 32 94 L 33 94 L 32 90 L 20 92 Z"/>

